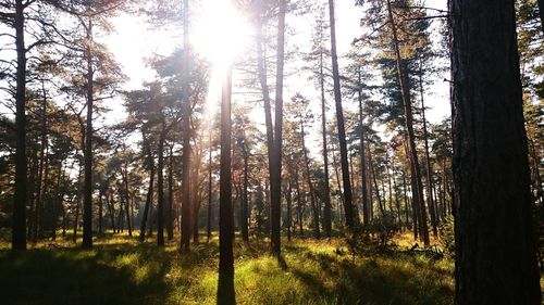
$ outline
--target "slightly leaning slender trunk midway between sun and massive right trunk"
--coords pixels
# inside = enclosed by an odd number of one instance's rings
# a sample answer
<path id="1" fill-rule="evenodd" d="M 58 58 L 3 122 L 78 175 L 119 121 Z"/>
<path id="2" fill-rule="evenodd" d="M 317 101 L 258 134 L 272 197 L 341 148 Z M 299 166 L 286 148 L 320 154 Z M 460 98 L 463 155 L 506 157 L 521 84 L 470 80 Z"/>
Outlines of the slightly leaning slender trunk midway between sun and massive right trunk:
<path id="1" fill-rule="evenodd" d="M 336 123 L 338 125 L 338 141 L 341 150 L 342 180 L 344 183 L 344 214 L 346 227 L 349 231 L 355 229 L 351 185 L 349 179 L 349 165 L 347 160 L 346 130 L 344 126 L 344 112 L 342 110 L 342 94 L 336 54 L 336 26 L 334 21 L 334 0 L 329 0 L 329 16 L 331 20 L 331 58 L 333 64 L 334 100 L 336 105 Z"/>

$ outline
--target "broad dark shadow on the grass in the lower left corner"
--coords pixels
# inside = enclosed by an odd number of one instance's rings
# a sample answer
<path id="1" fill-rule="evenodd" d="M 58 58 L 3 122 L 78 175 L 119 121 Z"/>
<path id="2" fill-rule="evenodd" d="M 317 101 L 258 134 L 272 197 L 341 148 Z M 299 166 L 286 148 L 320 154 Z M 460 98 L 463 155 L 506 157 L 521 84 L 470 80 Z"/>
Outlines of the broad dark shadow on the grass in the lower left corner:
<path id="1" fill-rule="evenodd" d="M 121 254 L 114 249 L 107 255 Z M 0 252 L 2 304 L 164 304 L 164 267 L 137 280 L 134 266 L 104 258 L 101 251 Z"/>

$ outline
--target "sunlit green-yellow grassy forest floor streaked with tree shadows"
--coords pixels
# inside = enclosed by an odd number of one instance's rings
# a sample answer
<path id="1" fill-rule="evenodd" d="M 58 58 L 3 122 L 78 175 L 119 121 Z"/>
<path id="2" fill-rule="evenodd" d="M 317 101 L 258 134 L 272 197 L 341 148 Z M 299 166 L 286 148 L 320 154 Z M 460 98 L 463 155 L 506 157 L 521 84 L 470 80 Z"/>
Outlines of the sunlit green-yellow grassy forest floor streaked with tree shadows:
<path id="1" fill-rule="evenodd" d="M 177 240 L 177 239 L 175 239 Z M 202 239 L 206 240 L 206 239 Z M 453 304 L 452 259 L 406 251 L 351 255 L 339 239 L 283 241 L 283 259 L 268 242 L 235 244 L 238 304 Z M 125 236 L 95 240 L 91 251 L 67 241 L 25 253 L 0 244 L 2 304 L 215 304 L 218 239 L 180 253 Z"/>

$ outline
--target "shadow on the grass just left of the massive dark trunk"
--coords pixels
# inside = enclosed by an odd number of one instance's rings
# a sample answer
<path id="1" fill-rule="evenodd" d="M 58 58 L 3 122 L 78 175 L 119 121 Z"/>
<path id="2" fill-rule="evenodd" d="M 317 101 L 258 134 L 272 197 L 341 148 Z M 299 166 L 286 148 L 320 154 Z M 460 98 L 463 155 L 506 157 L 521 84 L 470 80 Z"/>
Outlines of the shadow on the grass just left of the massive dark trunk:
<path id="1" fill-rule="evenodd" d="M 338 259 L 324 253 L 305 253 L 319 271 L 295 266 L 293 275 L 321 300 L 337 304 L 453 304 L 450 276 L 432 264 L 410 257 Z M 331 281 L 332 279 L 332 281 Z M 327 303 L 327 302 L 324 302 Z"/>

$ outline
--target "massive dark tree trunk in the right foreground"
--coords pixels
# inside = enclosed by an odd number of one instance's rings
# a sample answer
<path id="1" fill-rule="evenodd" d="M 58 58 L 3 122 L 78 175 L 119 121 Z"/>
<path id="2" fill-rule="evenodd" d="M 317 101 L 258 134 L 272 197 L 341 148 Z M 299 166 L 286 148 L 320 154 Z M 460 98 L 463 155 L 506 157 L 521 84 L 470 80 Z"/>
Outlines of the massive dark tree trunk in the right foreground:
<path id="1" fill-rule="evenodd" d="M 456 303 L 541 304 L 514 0 L 450 12 Z"/>

